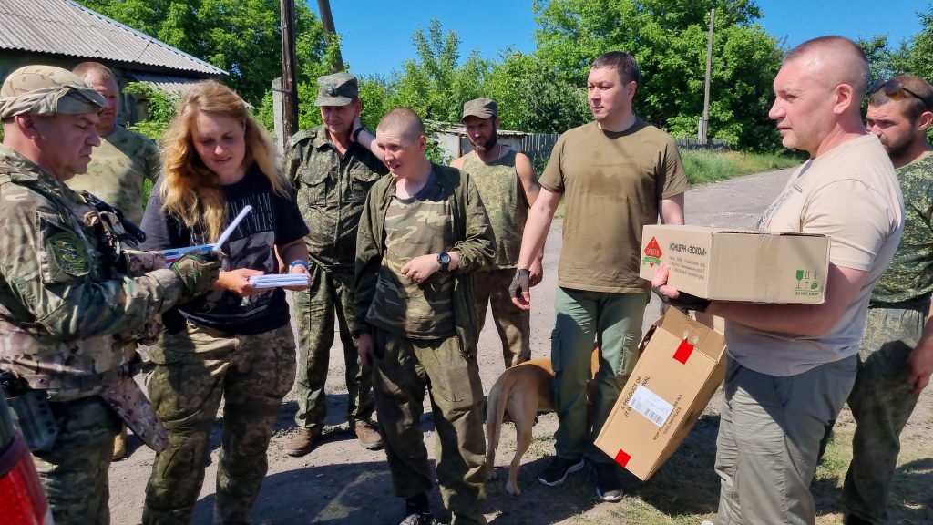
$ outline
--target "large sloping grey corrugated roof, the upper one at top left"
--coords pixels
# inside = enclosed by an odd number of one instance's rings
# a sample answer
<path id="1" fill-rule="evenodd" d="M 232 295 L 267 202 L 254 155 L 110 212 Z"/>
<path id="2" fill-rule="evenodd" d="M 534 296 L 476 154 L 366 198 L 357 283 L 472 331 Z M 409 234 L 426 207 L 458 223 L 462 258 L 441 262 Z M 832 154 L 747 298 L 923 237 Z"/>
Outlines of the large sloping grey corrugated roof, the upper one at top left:
<path id="1" fill-rule="evenodd" d="M 211 77 L 227 74 L 70 0 L 0 0 L 0 50 L 146 64 Z"/>

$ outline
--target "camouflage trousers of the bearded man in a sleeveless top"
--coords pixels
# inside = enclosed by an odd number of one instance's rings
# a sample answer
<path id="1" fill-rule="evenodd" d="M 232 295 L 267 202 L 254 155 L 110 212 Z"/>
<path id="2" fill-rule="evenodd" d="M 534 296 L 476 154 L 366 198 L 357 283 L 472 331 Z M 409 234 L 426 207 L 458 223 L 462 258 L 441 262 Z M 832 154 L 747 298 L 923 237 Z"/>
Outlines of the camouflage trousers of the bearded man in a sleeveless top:
<path id="1" fill-rule="evenodd" d="M 512 304 L 508 285 L 515 269 L 489 270 L 473 275 L 473 298 L 479 331 L 486 323 L 486 306 L 493 306 L 493 322 L 502 342 L 502 360 L 506 368 L 531 359 L 531 311 Z"/>

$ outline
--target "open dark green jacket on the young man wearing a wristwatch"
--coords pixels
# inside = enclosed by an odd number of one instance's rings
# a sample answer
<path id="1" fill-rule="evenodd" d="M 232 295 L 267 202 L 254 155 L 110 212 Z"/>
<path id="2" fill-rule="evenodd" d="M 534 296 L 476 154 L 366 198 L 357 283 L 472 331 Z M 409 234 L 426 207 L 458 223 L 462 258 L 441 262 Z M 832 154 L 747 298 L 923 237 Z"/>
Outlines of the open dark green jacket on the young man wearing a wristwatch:
<path id="1" fill-rule="evenodd" d="M 493 227 L 480 192 L 468 174 L 456 168 L 434 164 L 434 171 L 444 193 L 452 203 L 453 234 L 458 239 L 453 250 L 460 254 L 460 263 L 453 275 L 453 324 L 464 351 L 476 355 L 479 331 L 476 306 L 473 304 L 471 274 L 488 269 L 495 256 Z M 359 332 L 369 331 L 366 316 L 376 294 L 379 268 L 385 253 L 385 212 L 392 202 L 395 179 L 383 177 L 373 186 L 366 201 L 366 210 L 359 224 L 356 240 L 355 318 Z"/>

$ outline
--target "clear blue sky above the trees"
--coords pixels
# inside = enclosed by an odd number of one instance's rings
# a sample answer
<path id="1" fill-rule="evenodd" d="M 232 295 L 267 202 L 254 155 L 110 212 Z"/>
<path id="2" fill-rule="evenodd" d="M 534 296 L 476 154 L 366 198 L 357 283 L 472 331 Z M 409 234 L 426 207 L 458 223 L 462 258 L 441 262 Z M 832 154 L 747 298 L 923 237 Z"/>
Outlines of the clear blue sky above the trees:
<path id="1" fill-rule="evenodd" d="M 933 0 L 930 0 L 933 1 Z M 851 38 L 887 34 L 898 45 L 920 31 L 916 11 L 926 0 L 758 0 L 759 21 L 787 47 L 819 35 Z M 531 0 L 331 0 L 334 25 L 341 35 L 343 60 L 357 75 L 388 75 L 414 58 L 411 35 L 437 17 L 445 31 L 460 36 L 461 58 L 479 50 L 497 59 L 502 50 L 535 50 Z M 317 2 L 308 0 L 316 13 Z"/>

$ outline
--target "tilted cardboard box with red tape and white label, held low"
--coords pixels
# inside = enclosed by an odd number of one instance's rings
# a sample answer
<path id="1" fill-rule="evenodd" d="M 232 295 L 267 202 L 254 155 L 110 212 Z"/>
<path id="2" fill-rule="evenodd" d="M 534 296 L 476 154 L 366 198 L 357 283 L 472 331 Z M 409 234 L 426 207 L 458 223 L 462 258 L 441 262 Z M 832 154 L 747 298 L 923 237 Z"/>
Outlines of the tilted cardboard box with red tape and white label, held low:
<path id="1" fill-rule="evenodd" d="M 722 382 L 726 339 L 671 308 L 641 350 L 596 447 L 647 480 L 680 447 Z"/>

